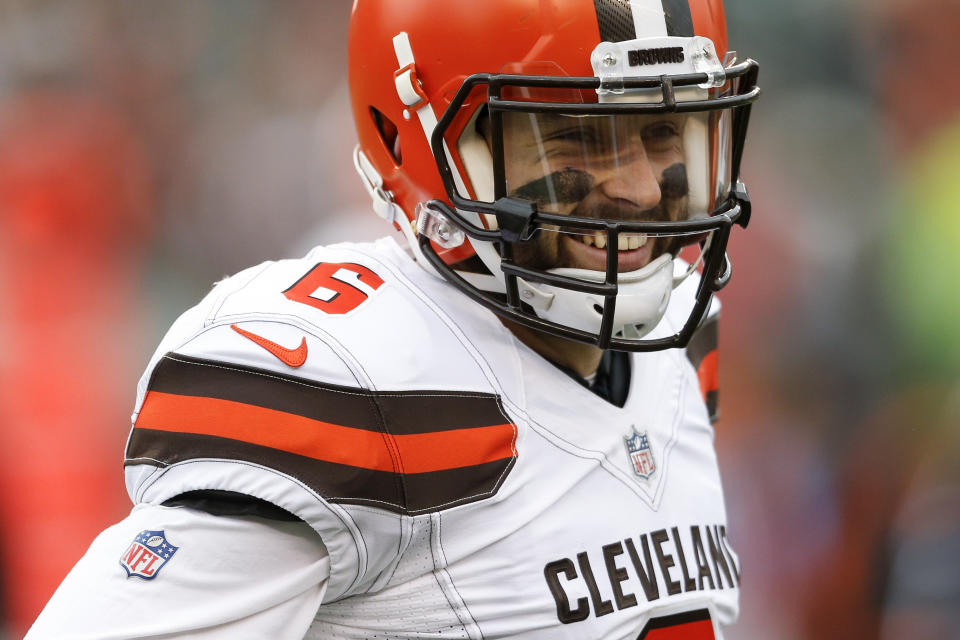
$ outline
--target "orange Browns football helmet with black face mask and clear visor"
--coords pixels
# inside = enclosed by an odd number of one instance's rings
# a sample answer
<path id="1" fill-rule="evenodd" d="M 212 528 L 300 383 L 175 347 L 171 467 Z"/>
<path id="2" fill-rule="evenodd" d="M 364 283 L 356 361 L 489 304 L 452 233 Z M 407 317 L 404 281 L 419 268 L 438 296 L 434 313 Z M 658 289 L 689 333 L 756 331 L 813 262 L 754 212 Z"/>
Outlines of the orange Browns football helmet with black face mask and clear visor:
<path id="1" fill-rule="evenodd" d="M 356 0 L 349 42 L 355 164 L 419 262 L 542 331 L 686 344 L 750 215 L 758 65 L 720 0 Z"/>

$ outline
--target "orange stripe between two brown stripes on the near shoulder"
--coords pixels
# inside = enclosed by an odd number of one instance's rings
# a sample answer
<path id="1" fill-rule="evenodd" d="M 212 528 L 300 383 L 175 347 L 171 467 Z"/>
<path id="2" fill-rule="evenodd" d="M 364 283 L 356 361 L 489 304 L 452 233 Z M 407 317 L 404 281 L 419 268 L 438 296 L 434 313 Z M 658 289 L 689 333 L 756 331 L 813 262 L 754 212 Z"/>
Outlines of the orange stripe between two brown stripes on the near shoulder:
<path id="1" fill-rule="evenodd" d="M 514 456 L 512 424 L 390 436 L 231 400 L 149 391 L 138 428 L 240 440 L 375 471 L 426 473 Z M 398 452 L 401 468 L 390 454 Z"/>

